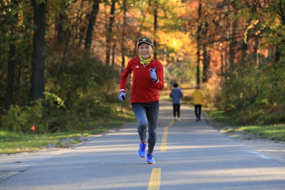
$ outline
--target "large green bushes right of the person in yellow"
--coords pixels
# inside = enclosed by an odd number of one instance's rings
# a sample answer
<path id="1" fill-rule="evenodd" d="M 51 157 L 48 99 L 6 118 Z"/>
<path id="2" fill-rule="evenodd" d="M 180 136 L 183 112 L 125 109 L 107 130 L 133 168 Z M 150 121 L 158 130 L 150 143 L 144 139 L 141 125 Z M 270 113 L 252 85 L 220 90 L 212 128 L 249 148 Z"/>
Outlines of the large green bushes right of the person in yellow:
<path id="1" fill-rule="evenodd" d="M 263 68 L 238 68 L 216 94 L 216 106 L 241 124 L 285 122 L 285 59 Z"/>

